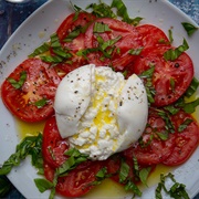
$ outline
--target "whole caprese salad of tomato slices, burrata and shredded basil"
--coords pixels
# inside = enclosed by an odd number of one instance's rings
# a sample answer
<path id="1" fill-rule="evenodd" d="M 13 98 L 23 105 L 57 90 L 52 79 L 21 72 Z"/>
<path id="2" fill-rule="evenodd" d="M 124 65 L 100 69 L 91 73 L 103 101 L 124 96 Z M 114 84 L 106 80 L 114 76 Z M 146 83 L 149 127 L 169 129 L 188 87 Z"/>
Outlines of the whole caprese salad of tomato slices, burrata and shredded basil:
<path id="1" fill-rule="evenodd" d="M 113 11 L 113 8 L 117 12 Z M 4 80 L 8 109 L 27 123 L 45 122 L 38 136 L 24 137 L 3 164 L 7 175 L 28 155 L 43 178 L 41 192 L 81 197 L 106 178 L 142 196 L 137 186 L 159 164 L 178 166 L 199 144 L 191 115 L 199 98 L 187 102 L 199 85 L 185 52 L 153 24 L 130 19 L 123 1 L 74 6 L 74 13 L 49 41 Z M 117 19 L 117 18 L 122 19 Z M 197 28 L 184 23 L 189 34 Z M 187 197 L 174 180 L 171 197 Z M 166 176 L 156 189 L 161 197 Z"/>

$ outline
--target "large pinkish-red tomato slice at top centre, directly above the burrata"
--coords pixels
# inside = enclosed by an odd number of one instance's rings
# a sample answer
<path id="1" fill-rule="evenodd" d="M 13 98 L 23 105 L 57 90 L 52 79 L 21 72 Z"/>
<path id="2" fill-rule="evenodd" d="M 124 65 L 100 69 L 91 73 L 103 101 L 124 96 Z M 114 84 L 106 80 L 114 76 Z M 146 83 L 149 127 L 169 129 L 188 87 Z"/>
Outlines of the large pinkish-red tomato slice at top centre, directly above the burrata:
<path id="1" fill-rule="evenodd" d="M 109 41 L 116 39 L 117 36 L 122 38 L 114 44 L 114 50 L 111 54 L 111 57 L 104 57 L 102 52 L 96 51 L 87 55 L 88 62 L 96 65 L 112 65 L 117 70 L 123 70 L 135 59 L 135 55 L 129 54 L 128 51 L 132 49 L 135 50 L 142 48 L 140 35 L 138 31 L 133 25 L 115 19 L 97 19 L 88 27 L 85 33 L 86 49 L 98 48 L 97 35 L 93 31 L 94 24 L 96 22 L 107 24 L 111 29 L 111 31 L 97 33 L 98 35 L 101 35 L 103 41 Z M 109 50 L 112 50 L 112 48 L 109 48 Z"/>

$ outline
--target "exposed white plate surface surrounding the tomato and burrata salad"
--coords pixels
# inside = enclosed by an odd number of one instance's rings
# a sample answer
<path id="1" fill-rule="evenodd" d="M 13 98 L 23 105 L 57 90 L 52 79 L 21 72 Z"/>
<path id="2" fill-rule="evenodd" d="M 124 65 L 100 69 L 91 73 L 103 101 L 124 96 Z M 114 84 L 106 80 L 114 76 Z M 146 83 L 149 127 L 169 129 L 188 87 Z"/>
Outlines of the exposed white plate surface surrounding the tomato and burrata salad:
<path id="1" fill-rule="evenodd" d="M 74 4 L 85 8 L 92 0 L 73 0 Z M 96 1 L 98 2 L 98 1 Z M 111 2 L 111 1 L 105 1 Z M 196 76 L 199 78 L 199 31 L 188 38 L 182 29 L 181 22 L 191 21 L 185 13 L 165 0 L 124 0 L 132 18 L 145 18 L 142 23 L 151 23 L 161 28 L 166 33 L 174 27 L 174 45 L 182 43 L 184 38 L 189 43 L 187 53 L 195 64 Z M 67 0 L 50 0 L 36 10 L 10 38 L 0 52 L 0 85 L 12 70 L 21 63 L 43 41 L 56 30 L 64 18 L 72 12 Z M 198 91 L 199 94 L 199 91 Z M 18 132 L 12 115 L 7 111 L 0 98 L 0 164 L 14 153 L 19 143 Z M 192 198 L 199 191 L 199 148 L 191 158 L 174 170 L 178 181 L 187 186 Z M 40 193 L 35 188 L 33 179 L 36 176 L 35 169 L 31 166 L 30 159 L 23 161 L 20 167 L 14 168 L 9 175 L 9 179 L 25 198 L 48 198 L 49 192 Z M 155 187 L 146 189 L 143 198 L 155 198 Z M 96 198 L 96 197 L 95 197 Z"/>

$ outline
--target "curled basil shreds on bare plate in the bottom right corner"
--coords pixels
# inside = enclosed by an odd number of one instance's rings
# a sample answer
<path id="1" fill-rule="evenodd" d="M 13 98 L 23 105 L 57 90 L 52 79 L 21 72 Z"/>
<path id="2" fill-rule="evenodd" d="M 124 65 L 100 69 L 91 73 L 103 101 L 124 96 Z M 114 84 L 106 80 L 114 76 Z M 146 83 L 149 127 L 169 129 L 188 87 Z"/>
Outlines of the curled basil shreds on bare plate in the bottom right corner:
<path id="1" fill-rule="evenodd" d="M 169 178 L 174 182 L 170 188 L 166 188 L 165 184 L 167 178 Z M 189 199 L 189 196 L 186 191 L 186 186 L 177 182 L 171 172 L 165 176 L 163 174 L 160 175 L 160 182 L 156 188 L 156 199 L 163 199 L 161 190 L 164 190 L 171 198 Z"/>

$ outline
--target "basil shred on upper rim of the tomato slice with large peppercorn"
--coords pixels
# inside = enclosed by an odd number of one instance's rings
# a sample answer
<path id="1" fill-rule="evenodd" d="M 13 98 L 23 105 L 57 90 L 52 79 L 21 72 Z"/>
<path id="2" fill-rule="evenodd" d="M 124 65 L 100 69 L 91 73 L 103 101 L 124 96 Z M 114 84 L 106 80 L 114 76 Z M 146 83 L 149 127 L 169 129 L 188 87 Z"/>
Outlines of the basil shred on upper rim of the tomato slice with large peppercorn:
<path id="1" fill-rule="evenodd" d="M 186 39 L 184 39 L 184 43 L 181 45 L 179 45 L 175 50 L 170 49 L 170 50 L 166 51 L 164 53 L 164 57 L 166 61 L 175 61 L 176 59 L 178 59 L 180 56 L 180 54 L 182 52 L 185 52 L 188 49 L 189 49 L 189 45 L 188 45 Z"/>

